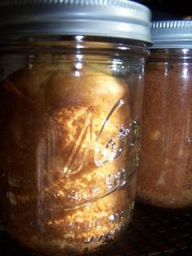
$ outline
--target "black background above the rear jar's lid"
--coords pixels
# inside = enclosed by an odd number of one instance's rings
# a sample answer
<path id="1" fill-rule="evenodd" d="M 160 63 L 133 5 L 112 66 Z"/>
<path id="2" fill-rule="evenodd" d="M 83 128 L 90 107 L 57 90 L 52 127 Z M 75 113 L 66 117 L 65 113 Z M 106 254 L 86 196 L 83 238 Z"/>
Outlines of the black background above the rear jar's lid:
<path id="1" fill-rule="evenodd" d="M 192 1 L 179 0 L 136 0 L 152 11 L 152 20 L 187 20 L 192 16 Z"/>

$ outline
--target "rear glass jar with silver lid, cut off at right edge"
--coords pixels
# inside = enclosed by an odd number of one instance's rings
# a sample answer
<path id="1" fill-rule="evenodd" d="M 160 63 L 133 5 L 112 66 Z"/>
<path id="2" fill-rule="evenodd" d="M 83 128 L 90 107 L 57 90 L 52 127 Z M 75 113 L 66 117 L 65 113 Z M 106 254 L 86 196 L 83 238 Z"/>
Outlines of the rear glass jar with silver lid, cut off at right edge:
<path id="1" fill-rule="evenodd" d="M 152 24 L 146 64 L 137 198 L 165 208 L 192 205 L 192 21 Z"/>

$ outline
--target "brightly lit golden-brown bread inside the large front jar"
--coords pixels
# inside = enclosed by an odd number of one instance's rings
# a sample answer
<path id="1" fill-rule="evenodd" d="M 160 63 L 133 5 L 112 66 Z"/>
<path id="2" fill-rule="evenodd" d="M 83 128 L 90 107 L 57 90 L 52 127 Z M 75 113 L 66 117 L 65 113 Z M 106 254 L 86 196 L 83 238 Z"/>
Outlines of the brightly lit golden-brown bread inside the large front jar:
<path id="1" fill-rule="evenodd" d="M 76 74 L 67 64 L 33 64 L 1 85 L 12 157 L 7 230 L 44 254 L 97 249 L 131 216 L 129 89 L 93 67 Z"/>

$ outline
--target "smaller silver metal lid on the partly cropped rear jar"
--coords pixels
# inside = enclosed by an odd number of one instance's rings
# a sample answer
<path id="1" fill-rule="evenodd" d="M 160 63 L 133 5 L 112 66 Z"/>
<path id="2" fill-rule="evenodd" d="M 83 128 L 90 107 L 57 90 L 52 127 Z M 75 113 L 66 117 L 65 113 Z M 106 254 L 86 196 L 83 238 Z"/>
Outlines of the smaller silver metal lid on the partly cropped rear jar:
<path id="1" fill-rule="evenodd" d="M 192 48 L 192 20 L 155 21 L 151 38 L 151 48 Z"/>

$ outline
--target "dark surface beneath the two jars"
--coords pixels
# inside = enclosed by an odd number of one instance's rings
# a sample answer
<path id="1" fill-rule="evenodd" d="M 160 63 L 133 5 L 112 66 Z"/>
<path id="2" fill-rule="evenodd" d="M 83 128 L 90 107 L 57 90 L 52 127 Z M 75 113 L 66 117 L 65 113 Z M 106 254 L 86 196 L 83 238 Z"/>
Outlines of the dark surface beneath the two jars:
<path id="1" fill-rule="evenodd" d="M 31 256 L 11 241 L 0 223 L 2 256 Z M 102 254 L 101 254 L 102 255 Z M 161 210 L 136 205 L 133 220 L 105 256 L 192 255 L 191 210 Z"/>

